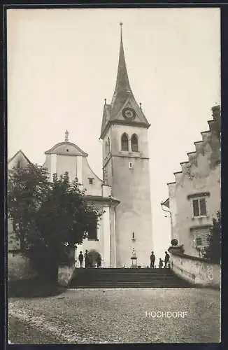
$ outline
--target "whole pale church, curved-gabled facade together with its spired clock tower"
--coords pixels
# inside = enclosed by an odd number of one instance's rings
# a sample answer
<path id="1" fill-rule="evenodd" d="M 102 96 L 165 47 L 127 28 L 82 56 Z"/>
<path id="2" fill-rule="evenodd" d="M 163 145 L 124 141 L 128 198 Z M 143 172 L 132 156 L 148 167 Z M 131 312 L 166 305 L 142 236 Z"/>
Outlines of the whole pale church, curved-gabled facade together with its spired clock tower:
<path id="1" fill-rule="evenodd" d="M 86 197 L 102 213 L 97 235 L 84 239 L 76 247 L 78 255 L 85 250 L 93 265 L 98 255 L 101 267 L 131 267 L 132 251 L 136 265 L 147 267 L 152 251 L 152 214 L 150 200 L 150 172 L 148 128 L 141 104 L 131 91 L 122 41 L 120 23 L 120 52 L 115 91 L 111 103 L 105 100 L 100 139 L 103 141 L 103 179 L 94 174 L 87 162 L 87 153 L 69 141 L 66 130 L 64 141 L 45 151 L 43 167 L 50 179 L 69 173 L 71 181 L 78 178 Z M 8 161 L 8 168 L 26 166 L 30 160 L 18 151 Z M 8 251 L 20 253 L 20 244 L 13 239 L 13 225 L 8 224 Z M 10 263 L 10 260 L 9 260 Z"/>

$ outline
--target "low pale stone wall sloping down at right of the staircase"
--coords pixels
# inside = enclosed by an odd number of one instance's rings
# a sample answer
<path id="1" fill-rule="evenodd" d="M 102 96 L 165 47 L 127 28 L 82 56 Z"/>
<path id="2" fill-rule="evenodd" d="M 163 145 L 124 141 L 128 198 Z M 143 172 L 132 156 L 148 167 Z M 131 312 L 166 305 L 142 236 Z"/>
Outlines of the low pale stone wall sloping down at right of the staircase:
<path id="1" fill-rule="evenodd" d="M 170 267 L 180 278 L 194 286 L 220 288 L 221 267 L 206 259 L 197 258 L 184 253 L 171 253 Z"/>

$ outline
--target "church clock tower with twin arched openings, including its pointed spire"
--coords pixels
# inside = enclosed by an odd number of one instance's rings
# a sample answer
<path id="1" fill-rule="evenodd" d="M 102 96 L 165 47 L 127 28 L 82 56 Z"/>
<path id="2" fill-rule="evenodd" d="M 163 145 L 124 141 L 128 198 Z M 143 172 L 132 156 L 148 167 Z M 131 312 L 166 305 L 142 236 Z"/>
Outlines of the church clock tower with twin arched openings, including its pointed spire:
<path id="1" fill-rule="evenodd" d="M 111 186 L 113 197 L 120 200 L 115 208 L 116 267 L 130 267 L 136 251 L 138 265 L 146 267 L 152 251 L 152 218 L 148 128 L 131 91 L 122 43 L 115 91 L 111 104 L 105 100 L 101 137 L 103 140 L 103 179 Z"/>

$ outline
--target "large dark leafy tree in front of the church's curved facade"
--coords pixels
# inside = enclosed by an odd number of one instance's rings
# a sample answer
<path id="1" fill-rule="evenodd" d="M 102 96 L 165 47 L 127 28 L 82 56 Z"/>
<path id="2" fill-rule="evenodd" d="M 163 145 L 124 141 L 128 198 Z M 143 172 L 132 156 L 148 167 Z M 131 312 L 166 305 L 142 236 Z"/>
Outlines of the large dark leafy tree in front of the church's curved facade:
<path id="1" fill-rule="evenodd" d="M 37 165 L 9 173 L 8 216 L 17 227 L 22 253 L 42 274 L 57 278 L 59 263 L 69 262 L 74 246 L 97 230 L 100 215 L 67 173 L 55 174 L 52 182 Z"/>

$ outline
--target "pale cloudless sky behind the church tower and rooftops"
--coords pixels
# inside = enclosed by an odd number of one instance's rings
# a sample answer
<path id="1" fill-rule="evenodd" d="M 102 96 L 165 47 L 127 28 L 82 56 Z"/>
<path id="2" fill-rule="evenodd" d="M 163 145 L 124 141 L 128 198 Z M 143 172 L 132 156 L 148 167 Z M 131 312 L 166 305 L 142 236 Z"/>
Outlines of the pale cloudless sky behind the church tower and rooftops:
<path id="1" fill-rule="evenodd" d="M 148 130 L 152 236 L 157 258 L 170 244 L 160 202 L 166 183 L 220 104 L 218 8 L 7 10 L 8 158 L 19 149 L 43 165 L 44 152 L 69 141 L 102 177 L 104 99 L 115 89 L 123 22 L 131 90 Z M 169 215 L 168 215 L 169 216 Z"/>

